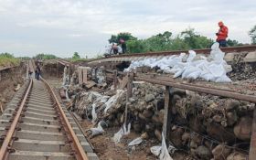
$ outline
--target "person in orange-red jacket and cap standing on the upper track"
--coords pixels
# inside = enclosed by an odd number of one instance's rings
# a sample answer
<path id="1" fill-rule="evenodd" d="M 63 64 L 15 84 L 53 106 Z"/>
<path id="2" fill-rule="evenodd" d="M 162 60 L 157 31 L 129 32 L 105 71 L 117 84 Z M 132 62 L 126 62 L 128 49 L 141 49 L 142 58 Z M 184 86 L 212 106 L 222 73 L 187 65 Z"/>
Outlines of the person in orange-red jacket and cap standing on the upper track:
<path id="1" fill-rule="evenodd" d="M 226 38 L 228 37 L 228 33 L 229 33 L 229 28 L 224 26 L 223 22 L 220 21 L 218 23 L 219 25 L 219 32 L 216 33 L 217 36 L 217 42 L 219 42 L 219 47 L 223 48 L 223 47 L 227 47 L 227 40 Z"/>

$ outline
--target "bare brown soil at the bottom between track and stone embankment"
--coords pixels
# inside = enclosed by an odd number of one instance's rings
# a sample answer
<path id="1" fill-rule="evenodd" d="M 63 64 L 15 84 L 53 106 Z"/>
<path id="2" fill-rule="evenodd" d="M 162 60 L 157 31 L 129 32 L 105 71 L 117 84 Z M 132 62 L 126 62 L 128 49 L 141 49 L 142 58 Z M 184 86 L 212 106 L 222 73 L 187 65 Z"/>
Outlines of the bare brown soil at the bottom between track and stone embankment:
<path id="1" fill-rule="evenodd" d="M 87 130 L 92 127 L 92 124 L 83 120 L 81 126 L 84 130 Z M 130 160 L 130 159 L 144 159 L 144 160 L 155 160 L 156 157 L 150 153 L 149 148 L 151 146 L 159 144 L 154 139 L 146 140 L 142 144 L 129 147 L 129 144 L 133 139 L 140 136 L 140 134 L 129 133 L 128 135 L 123 136 L 120 144 L 115 144 L 112 141 L 114 133 L 117 133 L 120 128 L 112 127 L 105 128 L 105 133 L 90 138 L 89 141 L 95 149 L 95 153 L 99 156 L 100 159 L 107 160 Z"/>

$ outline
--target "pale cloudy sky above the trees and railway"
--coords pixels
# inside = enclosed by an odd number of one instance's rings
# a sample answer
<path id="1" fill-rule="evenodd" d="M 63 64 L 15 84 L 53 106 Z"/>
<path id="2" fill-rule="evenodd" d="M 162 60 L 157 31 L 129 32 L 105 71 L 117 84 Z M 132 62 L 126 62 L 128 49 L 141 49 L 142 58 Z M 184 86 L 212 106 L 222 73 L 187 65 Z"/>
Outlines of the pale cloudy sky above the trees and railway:
<path id="1" fill-rule="evenodd" d="M 215 38 L 218 22 L 229 38 L 250 43 L 256 25 L 255 0 L 0 0 L 0 53 L 60 58 L 102 54 L 112 34 L 146 38 L 193 27 Z"/>

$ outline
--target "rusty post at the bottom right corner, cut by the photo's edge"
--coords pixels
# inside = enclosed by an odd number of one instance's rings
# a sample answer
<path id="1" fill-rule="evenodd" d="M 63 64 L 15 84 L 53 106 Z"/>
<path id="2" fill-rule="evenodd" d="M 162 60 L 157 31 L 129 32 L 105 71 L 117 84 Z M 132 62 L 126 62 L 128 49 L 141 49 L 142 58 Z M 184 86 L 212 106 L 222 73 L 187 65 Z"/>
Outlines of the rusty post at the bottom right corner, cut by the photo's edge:
<path id="1" fill-rule="evenodd" d="M 250 153 L 249 160 L 256 159 L 256 109 L 253 112 L 253 120 L 251 127 L 251 145 L 250 145 Z"/>

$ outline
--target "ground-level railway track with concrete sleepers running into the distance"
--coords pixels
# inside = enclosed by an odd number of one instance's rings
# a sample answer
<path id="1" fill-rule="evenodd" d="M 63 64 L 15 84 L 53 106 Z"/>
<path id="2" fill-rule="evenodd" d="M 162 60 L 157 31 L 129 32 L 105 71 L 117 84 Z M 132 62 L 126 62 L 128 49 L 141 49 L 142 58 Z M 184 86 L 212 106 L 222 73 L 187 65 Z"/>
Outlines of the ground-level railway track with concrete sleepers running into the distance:
<path id="1" fill-rule="evenodd" d="M 46 80 L 31 78 L 17 91 L 0 118 L 0 134 L 1 160 L 98 159 Z"/>

